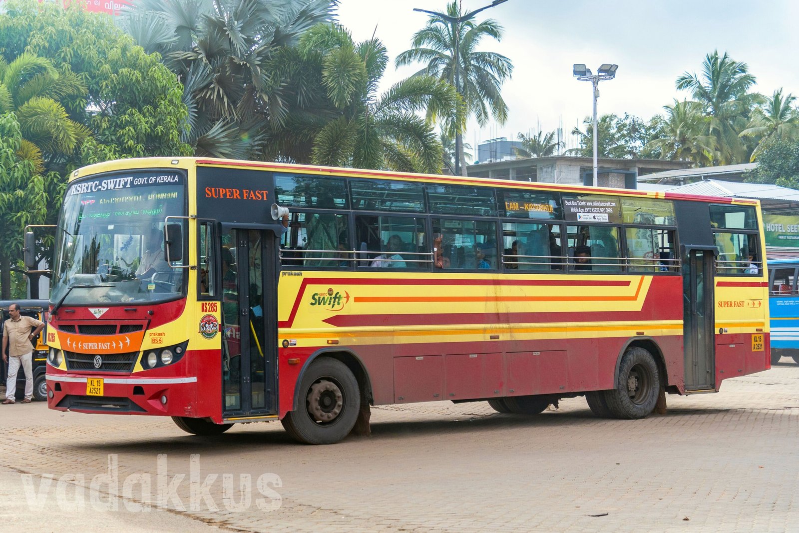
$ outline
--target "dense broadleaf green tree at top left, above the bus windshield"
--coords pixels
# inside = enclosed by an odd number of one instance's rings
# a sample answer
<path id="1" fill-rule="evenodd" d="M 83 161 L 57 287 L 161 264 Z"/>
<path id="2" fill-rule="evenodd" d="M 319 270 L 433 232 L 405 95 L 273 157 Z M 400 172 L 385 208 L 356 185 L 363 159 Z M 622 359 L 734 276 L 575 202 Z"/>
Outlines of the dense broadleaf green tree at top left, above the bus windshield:
<path id="1" fill-rule="evenodd" d="M 78 2 L 64 10 L 53 2 L 10 0 L 0 16 L 0 54 L 9 62 L 28 54 L 49 61 L 60 88 L 47 95 L 60 97 L 66 118 L 88 128 L 73 135 L 78 145 L 94 137 L 70 157 L 43 150 L 48 170 L 63 174 L 108 156 L 191 153 L 180 140 L 188 112 L 177 77 L 109 17 L 81 10 Z"/>

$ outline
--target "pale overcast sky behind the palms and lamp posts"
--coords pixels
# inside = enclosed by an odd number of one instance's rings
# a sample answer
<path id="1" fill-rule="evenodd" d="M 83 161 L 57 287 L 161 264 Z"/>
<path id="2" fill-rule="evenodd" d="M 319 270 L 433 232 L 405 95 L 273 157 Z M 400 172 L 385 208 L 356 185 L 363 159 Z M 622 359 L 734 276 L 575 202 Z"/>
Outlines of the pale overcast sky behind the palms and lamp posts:
<path id="1" fill-rule="evenodd" d="M 463 0 L 463 10 L 475 10 L 491 0 Z M 339 20 L 362 41 L 376 34 L 388 48 L 391 63 L 383 89 L 419 69 L 394 68 L 394 58 L 411 46 L 411 37 L 427 22 L 427 14 L 445 10 L 445 0 L 340 0 Z M 706 54 L 718 49 L 749 65 L 757 92 L 774 89 L 799 95 L 799 2 L 740 0 L 571 0 L 547 2 L 508 0 L 485 10 L 476 21 L 494 18 L 505 28 L 501 42 L 484 39 L 479 50 L 497 52 L 514 64 L 503 97 L 509 108 L 505 125 L 491 122 L 480 129 L 471 121 L 464 141 L 475 145 L 495 137 L 515 139 L 519 132 L 562 125 L 569 135 L 590 116 L 589 82 L 572 78 L 572 65 L 591 70 L 602 63 L 618 64 L 616 78 L 601 82 L 598 114 L 630 113 L 648 120 L 662 106 L 688 95 L 674 88 L 683 72 L 701 74 Z"/>

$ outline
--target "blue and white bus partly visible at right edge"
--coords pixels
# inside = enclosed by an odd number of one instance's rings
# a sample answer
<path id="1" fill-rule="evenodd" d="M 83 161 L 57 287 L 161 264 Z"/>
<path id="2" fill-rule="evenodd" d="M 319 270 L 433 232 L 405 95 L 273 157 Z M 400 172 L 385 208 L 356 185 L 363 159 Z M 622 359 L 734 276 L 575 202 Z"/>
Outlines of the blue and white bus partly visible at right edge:
<path id="1" fill-rule="evenodd" d="M 769 261 L 769 312 L 771 314 L 771 364 L 782 357 L 799 363 L 799 258 Z"/>

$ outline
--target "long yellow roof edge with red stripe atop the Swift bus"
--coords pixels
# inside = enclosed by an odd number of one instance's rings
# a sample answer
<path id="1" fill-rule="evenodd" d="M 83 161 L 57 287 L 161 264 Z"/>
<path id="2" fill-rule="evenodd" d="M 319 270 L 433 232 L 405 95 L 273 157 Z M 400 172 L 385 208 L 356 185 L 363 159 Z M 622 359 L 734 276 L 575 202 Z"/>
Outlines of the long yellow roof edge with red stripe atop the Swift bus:
<path id="1" fill-rule="evenodd" d="M 177 168 L 189 169 L 192 166 L 220 166 L 241 169 L 264 169 L 274 171 L 291 171 L 295 173 L 316 173 L 347 177 L 369 177 L 377 179 L 400 179 L 413 181 L 427 181 L 430 183 L 481 185 L 502 188 L 543 189 L 560 193 L 596 193 L 617 194 L 630 197 L 661 198 L 666 200 L 688 200 L 712 202 L 716 204 L 758 205 L 755 199 L 740 199 L 731 197 L 712 197 L 696 194 L 669 193 L 663 191 L 644 191 L 638 189 L 614 189 L 610 187 L 589 187 L 586 185 L 559 185 L 541 181 L 513 181 L 485 177 L 461 177 L 442 174 L 416 174 L 402 173 L 388 170 L 336 168 L 321 165 L 305 165 L 291 163 L 273 163 L 269 161 L 241 161 L 236 159 L 220 159 L 213 157 L 141 157 L 105 161 L 88 165 L 75 170 L 70 181 L 87 177 L 90 174 L 113 172 L 116 170 L 130 170 L 142 168 Z"/>

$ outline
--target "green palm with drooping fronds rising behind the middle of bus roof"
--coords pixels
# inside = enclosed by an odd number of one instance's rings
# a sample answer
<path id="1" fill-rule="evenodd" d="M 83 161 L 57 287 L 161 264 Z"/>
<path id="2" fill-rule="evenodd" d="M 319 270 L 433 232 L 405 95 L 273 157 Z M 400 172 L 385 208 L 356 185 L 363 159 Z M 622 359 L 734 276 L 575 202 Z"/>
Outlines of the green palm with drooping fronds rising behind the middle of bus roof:
<path id="1" fill-rule="evenodd" d="M 297 68 L 304 72 L 309 64 L 318 66 L 317 87 L 324 90 L 327 108 L 335 111 L 324 113 L 321 127 L 308 121 L 314 164 L 440 171 L 441 144 L 431 123 L 417 113 L 427 109 L 453 122 L 464 116 L 463 101 L 453 86 L 431 76 L 415 76 L 378 94 L 388 65 L 385 46 L 376 38 L 356 44 L 347 31 L 333 24 L 319 24 L 304 34 L 299 52 L 304 63 Z M 304 89 L 308 101 L 320 101 L 311 88 Z"/>

